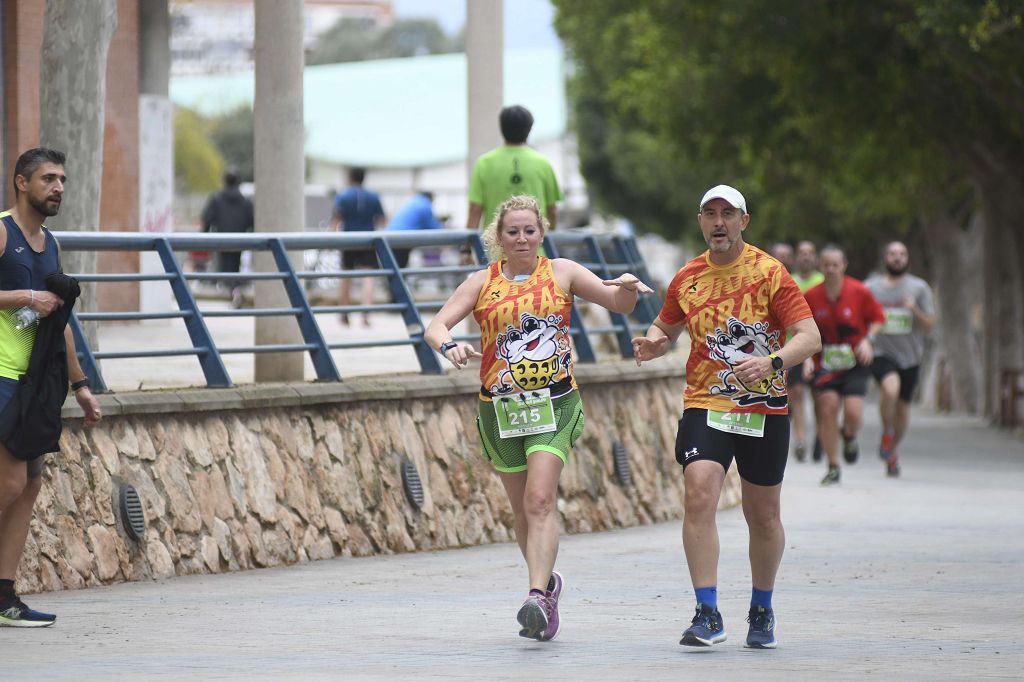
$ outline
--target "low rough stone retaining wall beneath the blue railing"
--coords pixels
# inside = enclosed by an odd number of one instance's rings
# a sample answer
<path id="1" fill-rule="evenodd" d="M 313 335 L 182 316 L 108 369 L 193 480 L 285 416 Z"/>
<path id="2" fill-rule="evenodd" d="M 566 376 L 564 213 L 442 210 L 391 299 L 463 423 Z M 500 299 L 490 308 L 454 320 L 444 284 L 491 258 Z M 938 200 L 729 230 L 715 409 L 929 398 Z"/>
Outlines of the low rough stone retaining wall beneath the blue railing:
<path id="1" fill-rule="evenodd" d="M 683 380 L 668 364 L 581 367 L 587 425 L 561 477 L 567 532 L 678 518 L 673 449 Z M 24 593 L 513 540 L 512 513 L 479 455 L 476 377 L 377 377 L 102 396 L 85 430 L 66 407 L 17 588 Z M 629 455 L 617 481 L 611 443 Z M 401 464 L 424 486 L 416 510 Z M 132 540 L 119 491 L 135 486 Z M 723 506 L 736 504 L 730 477 Z"/>

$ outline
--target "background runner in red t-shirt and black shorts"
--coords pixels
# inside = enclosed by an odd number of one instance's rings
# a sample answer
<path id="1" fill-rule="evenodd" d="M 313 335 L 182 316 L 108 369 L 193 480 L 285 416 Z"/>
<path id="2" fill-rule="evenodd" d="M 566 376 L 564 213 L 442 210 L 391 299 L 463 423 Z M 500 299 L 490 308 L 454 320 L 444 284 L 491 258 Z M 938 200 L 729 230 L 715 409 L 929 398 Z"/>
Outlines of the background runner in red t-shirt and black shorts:
<path id="1" fill-rule="evenodd" d="M 818 436 L 828 458 L 822 485 L 840 480 L 839 409 L 843 407 L 843 458 L 857 461 L 857 431 L 874 356 L 873 340 L 886 319 L 874 296 L 859 280 L 846 274 L 846 255 L 837 246 L 821 251 L 825 281 L 807 291 L 814 322 L 821 332 L 821 352 L 814 355 L 814 403 Z"/>

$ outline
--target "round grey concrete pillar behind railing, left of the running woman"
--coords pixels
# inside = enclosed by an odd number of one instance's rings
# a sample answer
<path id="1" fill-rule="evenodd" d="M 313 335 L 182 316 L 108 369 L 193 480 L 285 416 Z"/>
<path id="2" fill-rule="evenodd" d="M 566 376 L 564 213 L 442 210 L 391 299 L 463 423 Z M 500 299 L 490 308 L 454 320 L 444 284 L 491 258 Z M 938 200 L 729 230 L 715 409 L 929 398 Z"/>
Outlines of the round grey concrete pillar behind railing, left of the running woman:
<path id="1" fill-rule="evenodd" d="M 256 0 L 256 89 L 253 104 L 257 232 L 301 231 L 305 219 L 302 128 L 302 3 Z M 256 253 L 256 271 L 276 270 L 269 252 Z M 281 282 L 257 282 L 262 307 L 288 306 Z M 301 343 L 294 317 L 257 317 L 256 344 Z M 302 381 L 303 354 L 258 353 L 255 379 Z"/>

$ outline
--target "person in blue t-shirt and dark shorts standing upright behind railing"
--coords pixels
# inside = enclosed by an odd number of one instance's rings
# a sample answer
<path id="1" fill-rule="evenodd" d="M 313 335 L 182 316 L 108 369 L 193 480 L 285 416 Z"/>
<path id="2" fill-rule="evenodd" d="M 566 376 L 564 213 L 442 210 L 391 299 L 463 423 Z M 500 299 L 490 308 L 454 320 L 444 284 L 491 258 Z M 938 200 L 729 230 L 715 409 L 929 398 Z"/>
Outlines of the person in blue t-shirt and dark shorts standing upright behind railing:
<path id="1" fill-rule="evenodd" d="M 338 194 L 334 200 L 334 215 L 331 217 L 331 229 L 341 228 L 346 232 L 373 231 L 384 223 L 384 208 L 381 198 L 376 191 L 362 186 L 367 171 L 365 168 L 348 170 L 348 188 Z M 341 265 L 346 270 L 367 270 L 377 267 L 377 254 L 369 250 L 345 250 L 341 252 Z M 338 288 L 338 305 L 351 305 L 349 291 L 352 286 L 350 278 L 342 278 Z M 373 303 L 374 282 L 362 278 L 362 297 L 360 303 Z M 348 324 L 348 314 L 341 313 L 343 325 Z M 370 327 L 370 313 L 364 311 L 362 324 Z"/>

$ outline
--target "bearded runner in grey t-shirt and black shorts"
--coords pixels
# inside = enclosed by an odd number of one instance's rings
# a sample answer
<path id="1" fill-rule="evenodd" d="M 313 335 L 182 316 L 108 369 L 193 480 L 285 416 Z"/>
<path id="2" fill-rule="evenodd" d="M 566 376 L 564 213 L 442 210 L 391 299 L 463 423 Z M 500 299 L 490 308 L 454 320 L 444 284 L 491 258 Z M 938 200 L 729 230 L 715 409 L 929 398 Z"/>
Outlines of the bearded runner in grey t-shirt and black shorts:
<path id="1" fill-rule="evenodd" d="M 910 400 L 918 386 L 925 334 L 935 326 L 932 289 L 921 278 L 907 273 L 910 257 L 902 242 L 886 247 L 886 274 L 864 282 L 886 310 L 886 324 L 874 339 L 871 374 L 879 382 L 882 400 L 882 443 L 879 457 L 886 461 L 886 473 L 899 475 L 896 446 L 906 433 Z"/>

